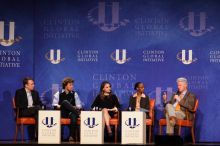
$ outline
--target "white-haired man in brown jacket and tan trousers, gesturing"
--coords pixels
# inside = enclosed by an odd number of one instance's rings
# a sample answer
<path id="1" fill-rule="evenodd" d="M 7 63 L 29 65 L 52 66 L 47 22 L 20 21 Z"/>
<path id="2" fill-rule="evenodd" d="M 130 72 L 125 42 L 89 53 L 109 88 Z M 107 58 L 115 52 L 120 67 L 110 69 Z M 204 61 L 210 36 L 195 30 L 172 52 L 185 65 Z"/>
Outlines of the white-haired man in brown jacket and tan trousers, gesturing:
<path id="1" fill-rule="evenodd" d="M 188 81 L 186 78 L 181 77 L 176 80 L 178 91 L 173 94 L 170 101 L 167 101 L 166 93 L 163 94 L 163 100 L 166 111 L 167 129 L 166 133 L 169 135 L 174 134 L 174 126 L 177 119 L 192 120 L 193 115 L 187 110 L 193 110 L 196 102 L 196 97 L 193 93 L 188 91 Z"/>

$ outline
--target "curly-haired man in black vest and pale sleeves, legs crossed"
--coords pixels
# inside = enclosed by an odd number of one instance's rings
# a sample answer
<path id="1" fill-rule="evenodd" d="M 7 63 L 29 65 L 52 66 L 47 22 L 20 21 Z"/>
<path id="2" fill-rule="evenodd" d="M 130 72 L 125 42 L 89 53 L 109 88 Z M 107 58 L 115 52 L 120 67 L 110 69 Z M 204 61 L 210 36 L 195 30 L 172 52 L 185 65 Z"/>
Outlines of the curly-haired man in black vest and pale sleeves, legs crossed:
<path id="1" fill-rule="evenodd" d="M 80 114 L 80 109 L 82 108 L 82 104 L 79 98 L 79 95 L 73 91 L 73 83 L 74 80 L 71 78 L 64 78 L 62 82 L 63 90 L 62 93 L 56 93 L 54 95 L 53 103 L 55 109 L 61 110 L 62 118 L 70 118 L 70 138 L 69 140 L 74 140 L 76 133 L 76 122 L 77 118 Z M 58 95 L 59 94 L 59 95 Z M 62 130 L 63 137 L 63 130 Z"/>

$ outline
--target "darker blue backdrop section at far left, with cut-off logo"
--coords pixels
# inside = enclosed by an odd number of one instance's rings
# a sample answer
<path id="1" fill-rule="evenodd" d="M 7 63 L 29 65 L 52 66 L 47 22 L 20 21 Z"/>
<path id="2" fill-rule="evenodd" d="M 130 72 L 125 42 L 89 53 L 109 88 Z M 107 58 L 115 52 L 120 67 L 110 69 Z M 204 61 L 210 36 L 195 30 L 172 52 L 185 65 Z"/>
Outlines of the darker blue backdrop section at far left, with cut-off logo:
<path id="1" fill-rule="evenodd" d="M 24 76 L 33 76 L 33 1 L 1 0 L 0 6 L 0 139 L 13 139 L 12 97 Z M 13 23 L 14 22 L 14 23 Z M 14 33 L 13 33 L 14 32 Z"/>

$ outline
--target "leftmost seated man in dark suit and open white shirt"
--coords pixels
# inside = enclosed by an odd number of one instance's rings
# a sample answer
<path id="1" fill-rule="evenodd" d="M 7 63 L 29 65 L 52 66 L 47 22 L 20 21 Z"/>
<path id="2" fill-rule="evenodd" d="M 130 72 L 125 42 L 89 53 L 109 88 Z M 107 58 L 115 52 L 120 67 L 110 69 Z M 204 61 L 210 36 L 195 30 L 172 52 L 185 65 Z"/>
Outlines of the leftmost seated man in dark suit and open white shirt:
<path id="1" fill-rule="evenodd" d="M 42 107 L 39 94 L 34 90 L 34 80 L 26 77 L 23 80 L 23 88 L 18 89 L 15 93 L 15 105 L 19 109 L 19 117 L 34 117 L 35 125 L 35 139 L 38 132 L 38 110 Z"/>

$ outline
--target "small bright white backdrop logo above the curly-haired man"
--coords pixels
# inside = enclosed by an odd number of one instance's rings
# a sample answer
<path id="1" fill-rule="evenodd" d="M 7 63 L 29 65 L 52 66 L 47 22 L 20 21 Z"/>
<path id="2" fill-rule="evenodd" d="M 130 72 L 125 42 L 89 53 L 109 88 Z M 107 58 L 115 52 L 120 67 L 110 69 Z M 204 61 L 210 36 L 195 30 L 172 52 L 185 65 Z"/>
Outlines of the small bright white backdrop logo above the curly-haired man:
<path id="1" fill-rule="evenodd" d="M 50 54 L 50 56 L 49 56 L 49 54 Z M 65 58 L 61 58 L 61 51 L 60 51 L 60 49 L 57 50 L 57 58 L 56 58 L 56 60 L 54 59 L 55 57 L 54 57 L 54 50 L 53 49 L 51 49 L 50 52 L 47 52 L 45 54 L 45 58 L 47 60 L 49 60 L 52 64 L 59 64 L 61 61 L 64 61 L 64 59 L 65 59 Z"/>

